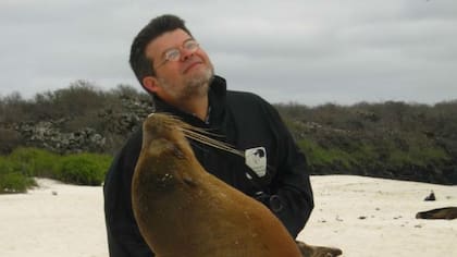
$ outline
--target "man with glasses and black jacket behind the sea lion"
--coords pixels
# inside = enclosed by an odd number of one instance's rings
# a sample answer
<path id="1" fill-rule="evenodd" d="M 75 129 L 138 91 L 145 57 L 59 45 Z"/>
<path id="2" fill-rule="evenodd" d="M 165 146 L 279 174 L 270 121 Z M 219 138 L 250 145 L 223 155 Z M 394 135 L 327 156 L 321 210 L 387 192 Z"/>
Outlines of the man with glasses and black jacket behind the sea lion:
<path id="1" fill-rule="evenodd" d="M 168 112 L 209 130 L 246 157 L 193 144 L 205 169 L 260 200 L 295 238 L 313 208 L 305 156 L 275 109 L 260 97 L 225 88 L 212 63 L 173 15 L 153 19 L 132 44 L 131 65 L 155 99 L 157 112 Z M 115 157 L 104 183 L 104 210 L 110 256 L 153 256 L 135 222 L 131 182 L 141 147 L 134 133 Z"/>

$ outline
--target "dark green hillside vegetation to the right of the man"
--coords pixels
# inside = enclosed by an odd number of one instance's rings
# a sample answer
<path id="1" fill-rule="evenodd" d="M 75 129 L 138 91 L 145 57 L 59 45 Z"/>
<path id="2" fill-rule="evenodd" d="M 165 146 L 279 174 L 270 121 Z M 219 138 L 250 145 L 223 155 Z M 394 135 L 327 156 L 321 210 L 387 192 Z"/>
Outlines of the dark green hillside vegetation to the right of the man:
<path id="1" fill-rule="evenodd" d="M 276 108 L 314 174 L 457 184 L 457 101 Z"/>

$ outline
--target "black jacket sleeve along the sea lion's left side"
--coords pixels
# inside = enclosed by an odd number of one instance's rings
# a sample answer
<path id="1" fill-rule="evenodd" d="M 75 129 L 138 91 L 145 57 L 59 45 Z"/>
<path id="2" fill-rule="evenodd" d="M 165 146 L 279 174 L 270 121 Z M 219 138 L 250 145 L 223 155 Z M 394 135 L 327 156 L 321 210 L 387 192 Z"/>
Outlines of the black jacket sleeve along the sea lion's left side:
<path id="1" fill-rule="evenodd" d="M 139 142 L 131 138 L 106 176 L 104 217 L 110 257 L 155 256 L 143 240 L 132 210 L 131 183 L 139 149 L 140 138 Z"/>

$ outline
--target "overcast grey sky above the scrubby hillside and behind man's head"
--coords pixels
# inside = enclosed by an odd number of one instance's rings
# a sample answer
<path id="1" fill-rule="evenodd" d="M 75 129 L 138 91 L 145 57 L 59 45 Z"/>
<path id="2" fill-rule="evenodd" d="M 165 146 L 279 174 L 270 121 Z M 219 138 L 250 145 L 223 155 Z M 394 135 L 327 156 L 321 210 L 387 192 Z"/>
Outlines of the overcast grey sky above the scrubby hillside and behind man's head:
<path id="1" fill-rule="evenodd" d="M 140 88 L 129 46 L 164 13 L 186 21 L 228 88 L 271 102 L 457 99 L 456 0 L 1 0 L 0 96 L 76 79 Z"/>

